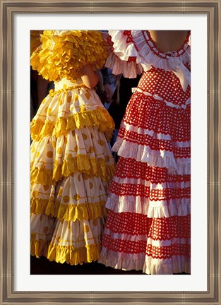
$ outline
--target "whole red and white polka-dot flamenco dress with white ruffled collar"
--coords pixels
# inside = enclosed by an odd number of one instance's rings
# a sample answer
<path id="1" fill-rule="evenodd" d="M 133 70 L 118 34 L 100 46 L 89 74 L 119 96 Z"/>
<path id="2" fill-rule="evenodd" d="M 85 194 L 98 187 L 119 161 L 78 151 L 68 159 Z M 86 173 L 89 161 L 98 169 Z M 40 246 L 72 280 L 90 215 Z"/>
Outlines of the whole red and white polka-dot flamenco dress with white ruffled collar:
<path id="1" fill-rule="evenodd" d="M 115 74 L 143 73 L 112 148 L 119 155 L 109 186 L 100 263 L 147 274 L 190 273 L 190 32 L 161 53 L 141 30 L 109 31 Z"/>

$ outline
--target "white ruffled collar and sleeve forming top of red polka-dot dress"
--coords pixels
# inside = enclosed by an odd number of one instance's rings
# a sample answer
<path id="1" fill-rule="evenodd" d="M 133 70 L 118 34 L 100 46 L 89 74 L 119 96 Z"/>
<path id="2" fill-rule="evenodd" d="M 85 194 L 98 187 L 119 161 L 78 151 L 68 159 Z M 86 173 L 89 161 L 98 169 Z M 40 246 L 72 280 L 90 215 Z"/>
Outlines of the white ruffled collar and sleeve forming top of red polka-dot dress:
<path id="1" fill-rule="evenodd" d="M 190 32 L 180 49 L 167 53 L 157 49 L 147 30 L 110 30 L 109 35 L 112 55 L 106 66 L 112 68 L 114 74 L 123 73 L 125 77 L 135 78 L 154 67 L 172 71 L 179 78 L 183 90 L 191 84 Z"/>

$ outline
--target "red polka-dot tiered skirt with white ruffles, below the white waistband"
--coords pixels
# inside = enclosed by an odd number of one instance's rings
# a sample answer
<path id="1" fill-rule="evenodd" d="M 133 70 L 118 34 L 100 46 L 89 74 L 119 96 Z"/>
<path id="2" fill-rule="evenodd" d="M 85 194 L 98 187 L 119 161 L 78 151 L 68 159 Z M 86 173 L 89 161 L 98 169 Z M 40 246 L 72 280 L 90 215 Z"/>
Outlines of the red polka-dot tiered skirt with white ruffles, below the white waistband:
<path id="1" fill-rule="evenodd" d="M 104 265 L 191 272 L 190 97 L 168 99 L 140 85 L 129 101 L 113 147 L 119 160 L 106 205 Z"/>

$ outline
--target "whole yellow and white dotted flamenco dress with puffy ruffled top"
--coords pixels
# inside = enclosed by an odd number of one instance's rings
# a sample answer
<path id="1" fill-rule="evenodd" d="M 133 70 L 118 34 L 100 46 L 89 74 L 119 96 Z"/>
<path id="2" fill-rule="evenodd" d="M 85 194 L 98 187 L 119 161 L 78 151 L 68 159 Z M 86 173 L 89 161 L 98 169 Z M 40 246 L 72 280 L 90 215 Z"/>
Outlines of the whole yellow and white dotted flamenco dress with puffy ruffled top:
<path id="1" fill-rule="evenodd" d="M 114 174 L 108 141 L 114 122 L 80 69 L 107 58 L 98 31 L 44 31 L 32 68 L 54 81 L 30 131 L 31 255 L 57 263 L 100 258 L 107 188 Z"/>

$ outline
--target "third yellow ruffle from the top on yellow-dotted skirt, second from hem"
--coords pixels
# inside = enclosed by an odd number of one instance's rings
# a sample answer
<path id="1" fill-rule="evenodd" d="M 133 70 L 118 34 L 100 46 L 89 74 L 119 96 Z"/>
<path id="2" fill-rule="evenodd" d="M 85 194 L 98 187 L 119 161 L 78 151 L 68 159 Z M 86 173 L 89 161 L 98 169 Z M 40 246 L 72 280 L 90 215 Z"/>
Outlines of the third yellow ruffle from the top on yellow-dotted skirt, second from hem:
<path id="1" fill-rule="evenodd" d="M 49 215 L 57 217 L 59 220 L 95 220 L 97 217 L 107 217 L 105 202 L 82 204 L 60 204 L 59 201 L 41 198 L 31 198 L 30 212 L 38 215 Z"/>

